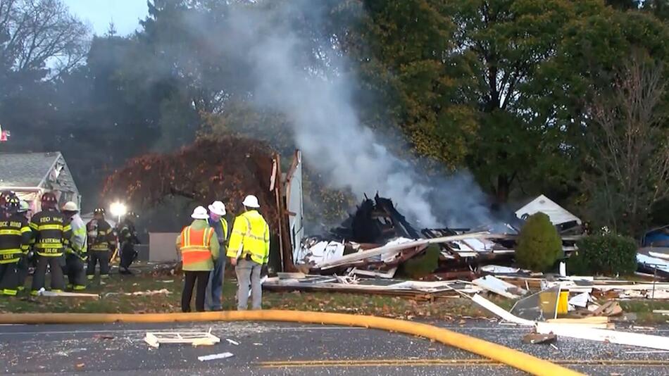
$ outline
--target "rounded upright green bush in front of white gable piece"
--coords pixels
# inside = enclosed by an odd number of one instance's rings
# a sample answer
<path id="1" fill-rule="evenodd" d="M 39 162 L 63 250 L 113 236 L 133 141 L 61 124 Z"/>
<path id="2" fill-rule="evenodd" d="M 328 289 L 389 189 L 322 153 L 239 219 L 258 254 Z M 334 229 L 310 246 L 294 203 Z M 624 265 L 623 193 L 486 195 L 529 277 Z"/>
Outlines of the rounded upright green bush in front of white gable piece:
<path id="1" fill-rule="evenodd" d="M 549 216 L 536 213 L 527 218 L 515 248 L 515 261 L 518 265 L 521 268 L 546 272 L 562 255 L 562 239 Z"/>

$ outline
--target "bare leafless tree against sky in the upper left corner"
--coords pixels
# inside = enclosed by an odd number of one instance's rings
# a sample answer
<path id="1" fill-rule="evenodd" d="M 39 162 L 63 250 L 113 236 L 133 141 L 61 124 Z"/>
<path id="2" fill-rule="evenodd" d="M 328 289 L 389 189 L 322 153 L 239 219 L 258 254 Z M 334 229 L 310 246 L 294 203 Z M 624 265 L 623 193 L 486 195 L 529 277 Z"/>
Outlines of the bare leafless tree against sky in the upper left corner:
<path id="1" fill-rule="evenodd" d="M 0 86 L 58 77 L 74 68 L 85 57 L 88 35 L 61 0 L 3 0 Z"/>

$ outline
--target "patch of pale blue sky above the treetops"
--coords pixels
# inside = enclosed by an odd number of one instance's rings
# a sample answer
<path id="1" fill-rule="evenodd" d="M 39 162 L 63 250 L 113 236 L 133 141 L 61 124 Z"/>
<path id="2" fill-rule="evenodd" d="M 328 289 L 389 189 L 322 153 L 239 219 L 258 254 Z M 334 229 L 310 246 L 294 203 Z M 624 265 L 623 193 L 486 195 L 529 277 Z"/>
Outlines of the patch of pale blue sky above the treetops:
<path id="1" fill-rule="evenodd" d="M 118 35 L 128 35 L 139 27 L 139 19 L 149 13 L 146 0 L 63 0 L 70 12 L 89 24 L 96 35 L 104 35 L 113 21 Z"/>

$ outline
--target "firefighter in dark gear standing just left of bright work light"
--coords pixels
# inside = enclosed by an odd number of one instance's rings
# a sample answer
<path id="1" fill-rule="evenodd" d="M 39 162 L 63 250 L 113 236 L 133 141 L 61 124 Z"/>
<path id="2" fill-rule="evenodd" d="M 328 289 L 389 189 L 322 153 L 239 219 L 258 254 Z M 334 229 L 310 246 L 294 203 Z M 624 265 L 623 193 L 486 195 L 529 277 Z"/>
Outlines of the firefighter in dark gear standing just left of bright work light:
<path id="1" fill-rule="evenodd" d="M 104 208 L 93 211 L 93 219 L 86 225 L 88 232 L 88 266 L 86 276 L 92 280 L 95 265 L 100 265 L 100 277 L 109 276 L 109 261 L 116 250 L 116 237 L 113 228 L 104 219 Z"/>

